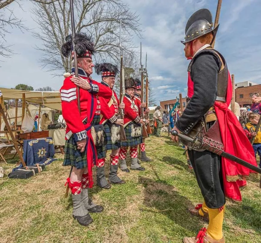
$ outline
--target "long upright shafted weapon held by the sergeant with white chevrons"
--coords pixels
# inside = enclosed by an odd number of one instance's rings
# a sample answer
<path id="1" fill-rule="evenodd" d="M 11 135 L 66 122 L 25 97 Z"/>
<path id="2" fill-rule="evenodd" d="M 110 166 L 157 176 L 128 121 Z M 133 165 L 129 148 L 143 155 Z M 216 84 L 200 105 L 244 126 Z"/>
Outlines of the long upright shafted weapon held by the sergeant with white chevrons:
<path id="1" fill-rule="evenodd" d="M 71 15 L 71 25 L 72 25 L 72 39 L 73 39 L 73 59 L 74 59 L 74 72 L 75 72 L 75 77 L 78 78 L 78 63 L 77 63 L 77 53 L 75 51 L 75 24 L 74 24 L 74 13 L 73 13 L 73 0 L 70 0 L 70 15 Z M 77 103 L 78 103 L 78 110 L 81 115 L 81 107 L 80 107 L 80 88 L 76 86 L 76 92 L 77 92 Z M 70 174 L 69 177 L 71 176 L 73 167 L 71 166 Z M 64 197 L 68 197 L 68 192 L 69 192 L 69 185 L 67 184 L 66 191 Z"/>

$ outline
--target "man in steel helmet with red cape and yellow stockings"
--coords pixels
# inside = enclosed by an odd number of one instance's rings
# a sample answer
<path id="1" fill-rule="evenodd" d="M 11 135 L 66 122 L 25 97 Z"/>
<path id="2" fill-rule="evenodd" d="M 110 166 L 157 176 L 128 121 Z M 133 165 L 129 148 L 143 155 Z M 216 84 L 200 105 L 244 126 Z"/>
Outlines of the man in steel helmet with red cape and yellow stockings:
<path id="1" fill-rule="evenodd" d="M 231 79 L 226 60 L 211 47 L 218 29 L 212 26 L 208 9 L 196 11 L 187 22 L 182 43 L 185 56 L 191 59 L 188 66 L 190 102 L 173 129 L 190 136 L 197 129 L 206 131 L 205 136 L 213 141 L 221 140 L 225 152 L 256 165 L 251 144 L 236 116 L 228 109 L 232 98 Z M 178 141 L 177 137 L 173 139 Z M 209 224 L 196 237 L 185 237 L 183 242 L 223 243 L 226 197 L 241 201 L 239 186 L 245 184 L 244 177 L 252 171 L 202 148 L 193 147 L 188 154 L 204 198 L 202 205 L 189 211 L 209 220 Z"/>

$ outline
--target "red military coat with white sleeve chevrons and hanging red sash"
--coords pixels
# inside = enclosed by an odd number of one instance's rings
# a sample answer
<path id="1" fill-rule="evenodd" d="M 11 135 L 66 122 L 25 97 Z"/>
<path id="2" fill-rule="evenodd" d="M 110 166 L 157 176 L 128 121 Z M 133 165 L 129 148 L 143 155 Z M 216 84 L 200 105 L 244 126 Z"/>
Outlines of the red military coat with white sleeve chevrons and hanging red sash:
<path id="1" fill-rule="evenodd" d="M 88 74 L 86 74 L 83 69 L 79 68 L 79 77 L 85 79 L 91 85 L 90 91 L 79 89 L 81 111 L 81 113 L 79 113 L 77 102 L 77 87 L 72 81 L 70 81 L 72 76 L 73 74 L 70 77 L 64 79 L 63 86 L 60 89 L 62 115 L 67 124 L 65 139 L 68 140 L 71 136 L 74 136 L 76 142 L 87 139 L 86 154 L 88 179 L 89 187 L 92 187 L 93 180 L 91 169 L 93 167 L 93 162 L 96 162 L 97 160 L 97 155 L 91 136 L 91 122 L 94 118 L 95 111 L 98 108 L 98 95 L 104 98 L 110 98 L 112 96 L 112 90 L 104 85 L 101 85 L 101 83 L 90 80 L 88 78 Z M 109 113 L 104 111 L 102 108 L 104 103 L 100 103 L 101 110 L 103 110 L 102 113 L 110 117 Z"/>

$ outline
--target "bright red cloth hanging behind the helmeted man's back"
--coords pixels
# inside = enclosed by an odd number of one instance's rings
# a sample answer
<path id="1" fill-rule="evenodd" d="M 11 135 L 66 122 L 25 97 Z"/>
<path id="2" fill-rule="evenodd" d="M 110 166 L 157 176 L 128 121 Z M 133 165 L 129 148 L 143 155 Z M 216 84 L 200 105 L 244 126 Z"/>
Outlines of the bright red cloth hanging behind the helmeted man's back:
<path id="1" fill-rule="evenodd" d="M 226 103 L 215 101 L 214 109 L 219 122 L 224 151 L 257 166 L 253 147 L 244 133 L 237 117 L 228 109 L 232 99 L 232 83 L 228 72 Z M 239 187 L 245 186 L 245 178 L 254 171 L 221 157 L 224 193 L 226 197 L 242 201 Z"/>

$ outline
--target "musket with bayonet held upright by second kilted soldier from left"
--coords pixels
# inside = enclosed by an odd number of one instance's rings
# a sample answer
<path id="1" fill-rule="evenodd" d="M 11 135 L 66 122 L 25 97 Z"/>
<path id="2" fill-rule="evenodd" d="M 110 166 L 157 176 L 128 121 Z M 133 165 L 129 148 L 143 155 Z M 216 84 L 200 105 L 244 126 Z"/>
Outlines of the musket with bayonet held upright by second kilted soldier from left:
<path id="1" fill-rule="evenodd" d="M 122 20 L 120 20 L 120 51 L 121 51 L 121 70 L 120 70 L 120 103 L 123 102 L 123 98 L 125 95 L 125 77 L 124 77 L 124 66 L 123 66 L 123 50 L 122 50 L 122 42 L 121 42 L 121 34 L 122 34 Z M 119 117 L 124 119 L 124 110 L 119 110 Z M 120 141 L 127 141 L 125 130 L 123 125 L 120 126 Z"/>

